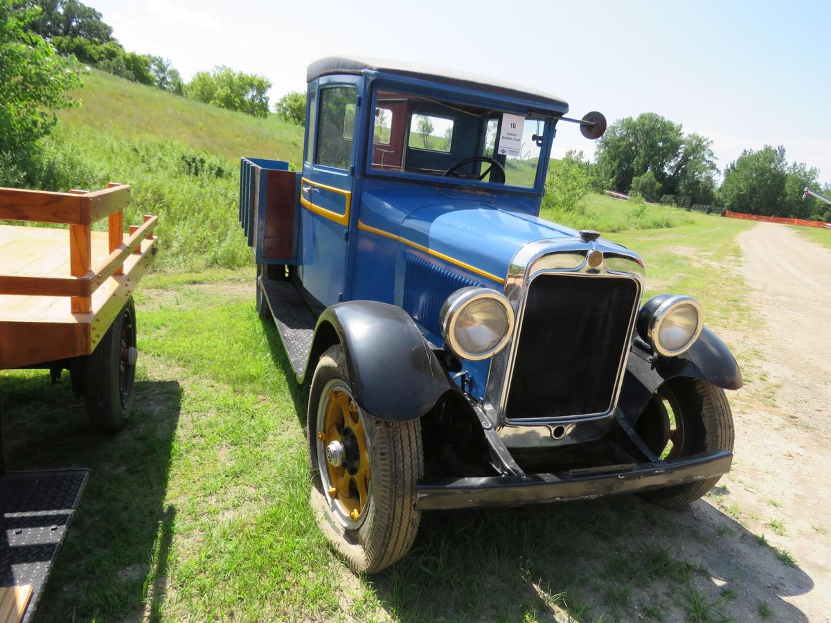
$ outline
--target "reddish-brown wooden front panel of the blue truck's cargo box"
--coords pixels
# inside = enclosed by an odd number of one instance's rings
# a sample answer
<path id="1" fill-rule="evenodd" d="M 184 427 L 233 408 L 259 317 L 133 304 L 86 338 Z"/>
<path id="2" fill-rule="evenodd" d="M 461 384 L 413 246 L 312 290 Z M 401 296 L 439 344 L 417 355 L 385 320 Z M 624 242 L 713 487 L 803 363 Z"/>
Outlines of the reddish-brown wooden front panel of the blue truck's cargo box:
<path id="1" fill-rule="evenodd" d="M 292 171 L 268 171 L 265 197 L 263 256 L 288 259 L 294 251 L 294 219 L 297 198 L 294 196 L 297 174 Z"/>

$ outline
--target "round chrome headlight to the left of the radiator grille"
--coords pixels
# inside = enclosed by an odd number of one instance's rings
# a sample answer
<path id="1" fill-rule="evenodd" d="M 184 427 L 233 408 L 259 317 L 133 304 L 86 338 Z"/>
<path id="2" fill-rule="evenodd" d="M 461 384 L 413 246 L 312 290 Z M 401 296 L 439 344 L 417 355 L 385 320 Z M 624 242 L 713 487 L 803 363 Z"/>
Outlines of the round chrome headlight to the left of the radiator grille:
<path id="1" fill-rule="evenodd" d="M 478 361 L 504 348 L 514 331 L 514 308 L 501 292 L 463 287 L 441 306 L 440 322 L 450 350 L 462 359 Z"/>

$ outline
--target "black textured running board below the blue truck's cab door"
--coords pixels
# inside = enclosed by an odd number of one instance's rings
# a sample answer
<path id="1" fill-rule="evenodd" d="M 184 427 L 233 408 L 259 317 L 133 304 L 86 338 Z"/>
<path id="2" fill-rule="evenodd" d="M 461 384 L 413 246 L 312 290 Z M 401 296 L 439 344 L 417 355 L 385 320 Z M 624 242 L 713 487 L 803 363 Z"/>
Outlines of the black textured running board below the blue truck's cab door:
<path id="1" fill-rule="evenodd" d="M 317 317 L 292 282 L 260 278 L 258 287 L 263 289 L 265 300 L 268 301 L 274 325 L 277 326 L 294 374 L 298 378 L 302 377 L 306 371 L 309 351 L 312 350 Z"/>

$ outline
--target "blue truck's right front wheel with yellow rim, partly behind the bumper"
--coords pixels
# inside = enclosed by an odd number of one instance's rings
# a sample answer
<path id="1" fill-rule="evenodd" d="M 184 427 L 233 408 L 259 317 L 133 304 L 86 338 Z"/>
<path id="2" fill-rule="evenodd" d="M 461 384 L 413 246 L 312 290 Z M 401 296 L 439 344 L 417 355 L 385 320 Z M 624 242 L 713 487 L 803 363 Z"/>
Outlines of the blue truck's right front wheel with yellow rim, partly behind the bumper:
<path id="1" fill-rule="evenodd" d="M 705 380 L 677 379 L 656 391 L 639 421 L 644 443 L 671 461 L 713 450 L 733 451 L 733 415 L 725 391 Z M 642 493 L 663 508 L 685 508 L 715 486 L 720 476 Z"/>

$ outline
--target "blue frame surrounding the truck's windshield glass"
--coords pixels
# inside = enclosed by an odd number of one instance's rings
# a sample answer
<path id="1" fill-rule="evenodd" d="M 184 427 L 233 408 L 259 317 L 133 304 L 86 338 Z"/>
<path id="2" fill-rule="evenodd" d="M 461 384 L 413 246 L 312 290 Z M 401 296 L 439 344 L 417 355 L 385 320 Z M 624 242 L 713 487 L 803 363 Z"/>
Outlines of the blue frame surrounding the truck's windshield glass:
<path id="1" fill-rule="evenodd" d="M 376 74 L 376 72 L 371 73 Z M 540 105 L 534 105 L 534 102 L 498 96 L 484 93 L 482 91 L 440 86 L 435 83 L 403 76 L 379 76 L 376 74 L 375 79 L 370 81 L 369 88 L 371 89 L 371 105 L 367 107 L 369 122 L 366 125 L 366 133 L 364 135 L 366 153 L 364 155 L 363 169 L 365 175 L 380 178 L 407 179 L 434 185 L 441 184 L 455 187 L 461 186 L 470 187 L 471 189 L 498 190 L 511 193 L 540 194 L 542 192 L 544 175 L 548 172 L 548 159 L 551 157 L 553 130 L 559 116 L 563 115 L 561 111 L 555 112 L 553 110 L 546 110 Z M 533 115 L 534 118 L 543 120 L 543 123 L 545 124 L 545 129 L 543 130 L 543 145 L 539 147 L 539 159 L 534 179 L 534 187 L 496 184 L 484 179 L 465 179 L 453 176 L 443 177 L 440 175 L 416 173 L 414 171 L 396 171 L 373 168 L 372 153 L 375 140 L 374 111 L 377 107 L 378 92 L 381 90 L 403 91 L 414 96 L 424 96 L 434 100 L 446 101 L 450 104 L 479 105 L 493 110 L 498 110 L 502 113 L 525 116 Z M 543 156 L 546 160 L 543 160 Z"/>

